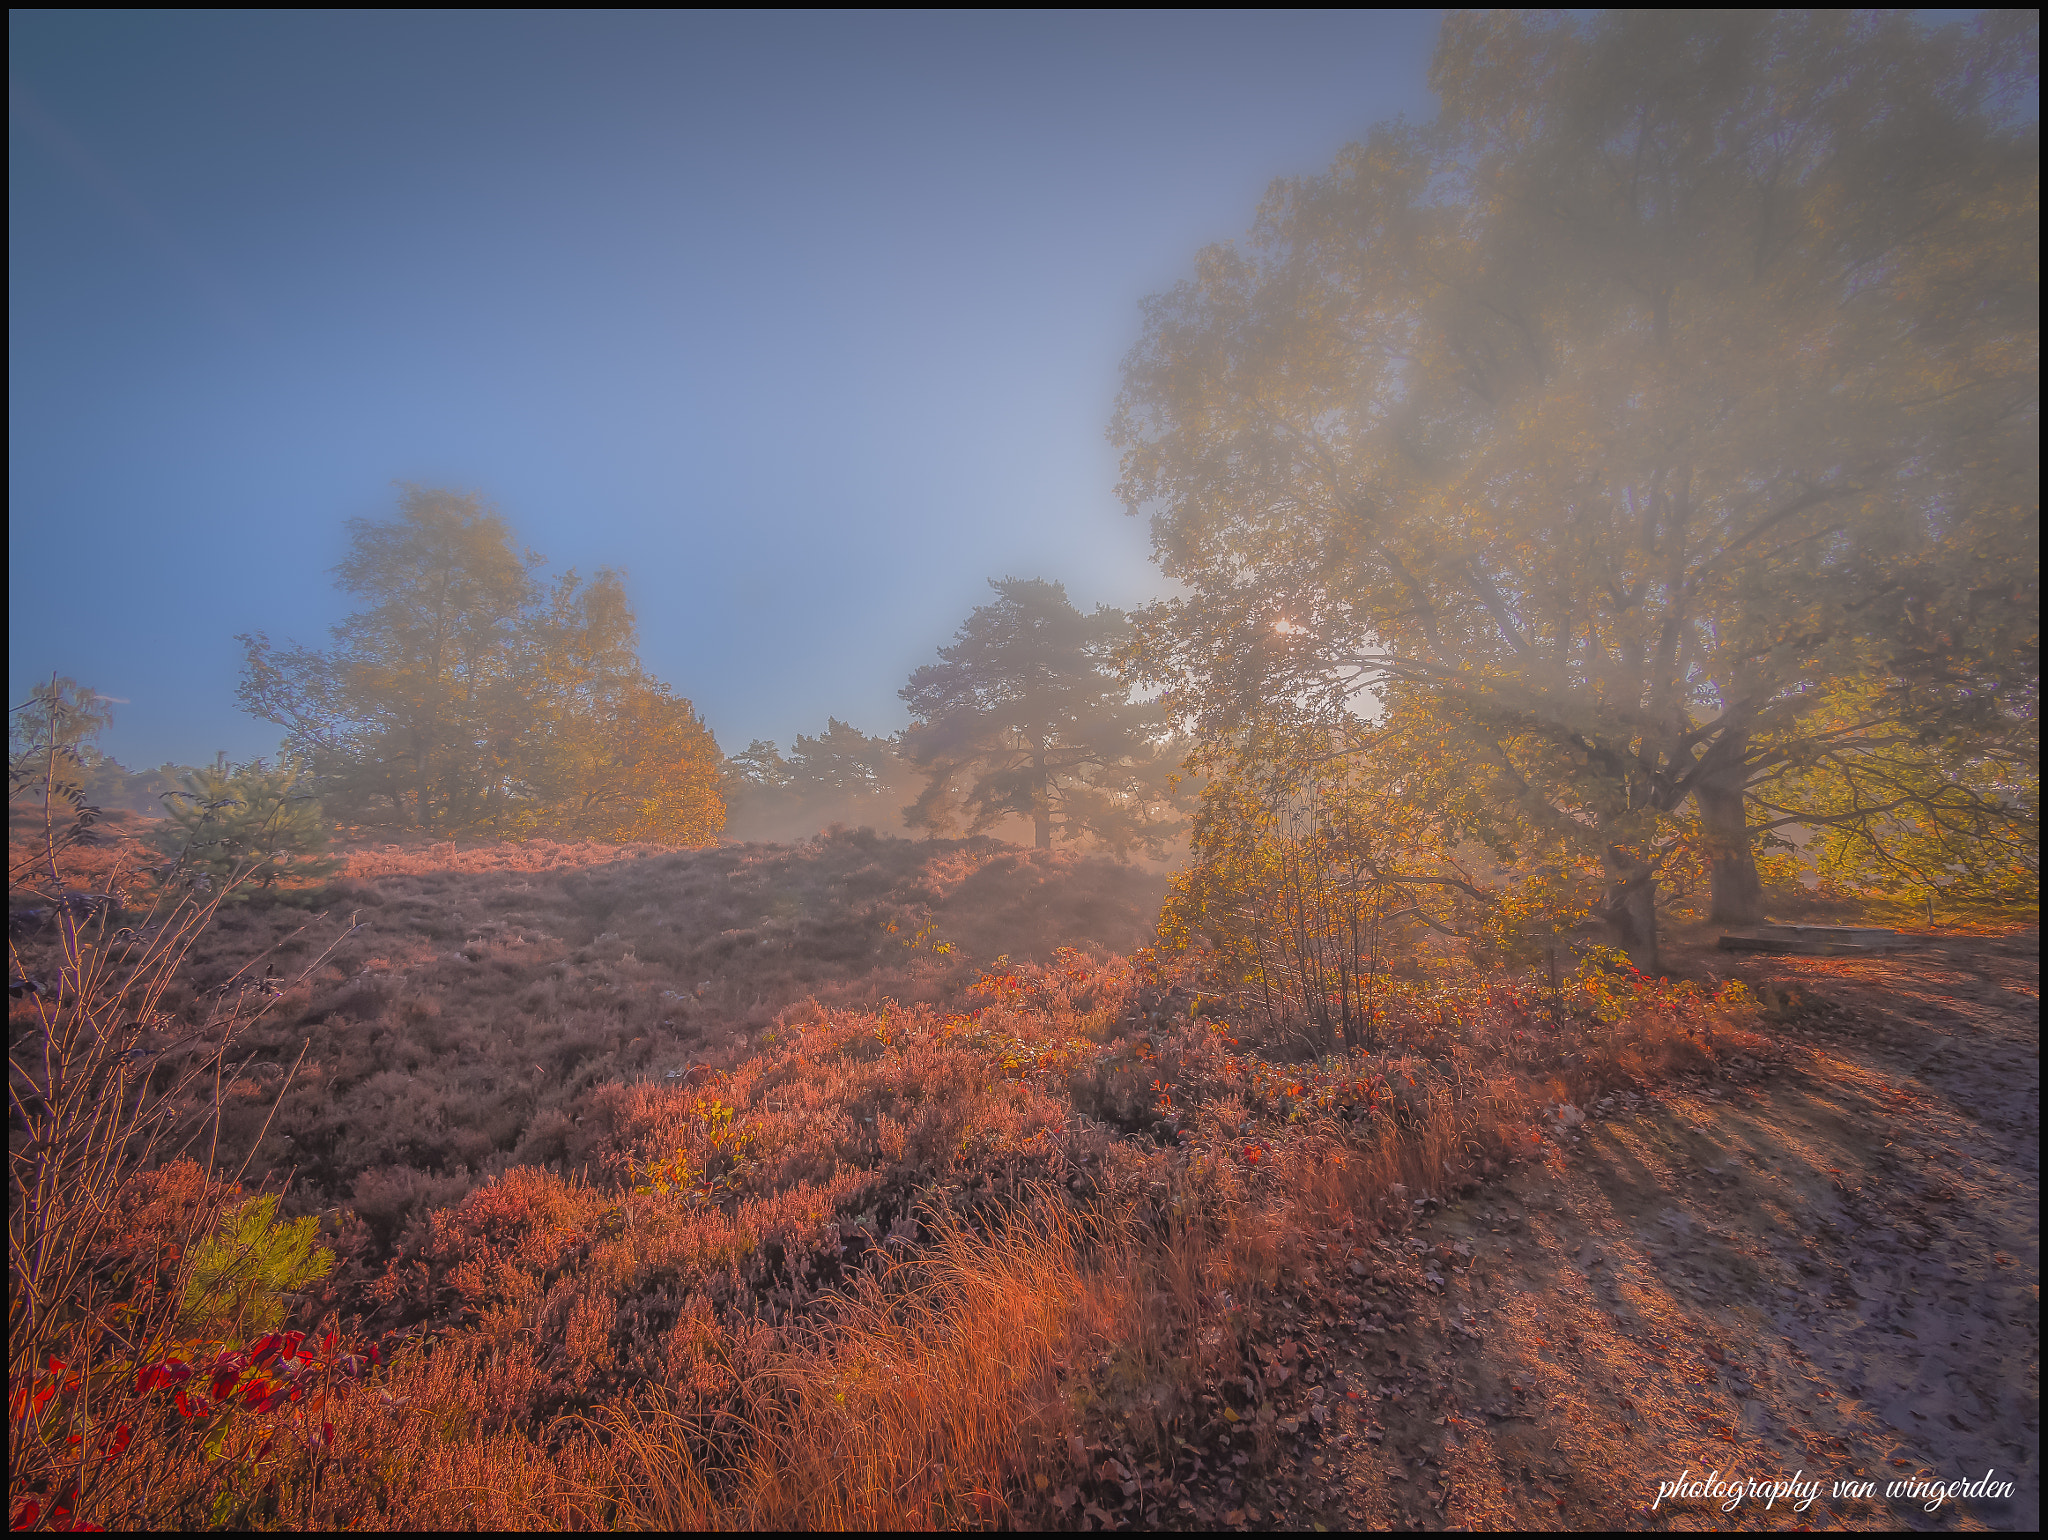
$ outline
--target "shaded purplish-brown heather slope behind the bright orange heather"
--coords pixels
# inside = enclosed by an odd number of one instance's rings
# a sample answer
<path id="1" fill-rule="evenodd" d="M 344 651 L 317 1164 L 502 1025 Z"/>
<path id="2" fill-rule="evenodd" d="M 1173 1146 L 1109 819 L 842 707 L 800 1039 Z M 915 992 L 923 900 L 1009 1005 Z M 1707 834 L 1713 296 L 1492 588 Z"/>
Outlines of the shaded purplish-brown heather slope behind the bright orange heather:
<path id="1" fill-rule="evenodd" d="M 141 827 L 115 819 L 72 879 L 90 889 L 141 860 Z M 250 958 L 293 977 L 334 946 L 242 1038 L 221 1151 L 289 1180 L 287 1210 L 354 1208 L 381 1235 L 508 1165 L 582 1167 L 575 1128 L 606 1085 L 723 1069 L 793 1012 L 956 1006 L 1006 952 L 1133 952 L 1165 889 L 1102 858 L 864 829 L 692 852 L 375 840 L 344 854 L 319 913 L 223 907 L 162 1006 L 250 977 Z"/>

